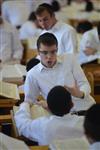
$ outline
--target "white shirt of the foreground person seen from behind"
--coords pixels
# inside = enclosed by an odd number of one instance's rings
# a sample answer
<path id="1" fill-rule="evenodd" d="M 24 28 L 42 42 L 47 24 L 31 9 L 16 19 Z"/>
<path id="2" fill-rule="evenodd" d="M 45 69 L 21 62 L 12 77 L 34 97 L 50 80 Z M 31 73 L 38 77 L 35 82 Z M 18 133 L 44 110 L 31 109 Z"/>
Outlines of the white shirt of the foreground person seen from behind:
<path id="1" fill-rule="evenodd" d="M 16 112 L 15 122 L 20 135 L 38 141 L 39 145 L 50 144 L 56 139 L 75 138 L 83 135 L 83 117 L 69 113 L 62 117 L 47 115 L 32 120 L 29 104 L 25 102 Z"/>

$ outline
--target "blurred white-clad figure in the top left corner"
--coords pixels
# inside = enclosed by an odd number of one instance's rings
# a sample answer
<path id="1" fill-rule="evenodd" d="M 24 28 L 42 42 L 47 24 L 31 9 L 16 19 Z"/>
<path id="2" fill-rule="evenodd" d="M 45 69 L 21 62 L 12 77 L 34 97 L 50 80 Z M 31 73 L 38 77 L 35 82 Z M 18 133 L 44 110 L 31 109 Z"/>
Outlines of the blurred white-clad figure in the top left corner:
<path id="1" fill-rule="evenodd" d="M 2 3 L 2 15 L 4 19 L 18 29 L 26 22 L 32 11 L 32 0 L 10 0 Z"/>

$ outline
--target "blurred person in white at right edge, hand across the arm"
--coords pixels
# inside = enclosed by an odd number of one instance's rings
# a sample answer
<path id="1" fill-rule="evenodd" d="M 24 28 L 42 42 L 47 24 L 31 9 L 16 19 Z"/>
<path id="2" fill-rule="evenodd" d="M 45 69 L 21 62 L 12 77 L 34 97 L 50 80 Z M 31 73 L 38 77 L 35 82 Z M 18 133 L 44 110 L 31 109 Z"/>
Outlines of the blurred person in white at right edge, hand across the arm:
<path id="1" fill-rule="evenodd" d="M 100 58 L 100 23 L 96 28 L 85 32 L 80 42 L 79 61 L 86 64 Z"/>

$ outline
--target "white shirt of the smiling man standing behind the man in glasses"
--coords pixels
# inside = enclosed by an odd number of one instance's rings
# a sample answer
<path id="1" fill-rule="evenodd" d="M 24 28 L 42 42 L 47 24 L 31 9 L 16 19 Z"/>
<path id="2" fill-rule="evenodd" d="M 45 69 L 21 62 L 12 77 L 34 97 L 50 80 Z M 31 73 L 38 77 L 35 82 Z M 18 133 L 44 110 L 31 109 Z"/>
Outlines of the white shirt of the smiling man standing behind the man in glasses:
<path id="1" fill-rule="evenodd" d="M 43 30 L 43 33 L 53 33 L 58 40 L 58 54 L 76 53 L 77 52 L 77 35 L 73 27 L 57 21 L 57 23 L 49 30 Z"/>

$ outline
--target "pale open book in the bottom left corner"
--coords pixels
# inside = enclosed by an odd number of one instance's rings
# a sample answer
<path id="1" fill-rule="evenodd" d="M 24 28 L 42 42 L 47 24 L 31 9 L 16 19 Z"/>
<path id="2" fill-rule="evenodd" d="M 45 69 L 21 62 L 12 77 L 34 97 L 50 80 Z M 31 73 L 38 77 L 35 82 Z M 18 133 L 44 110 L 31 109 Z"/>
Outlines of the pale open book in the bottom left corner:
<path id="1" fill-rule="evenodd" d="M 23 141 L 9 137 L 1 132 L 0 132 L 0 149 L 1 150 L 29 150 L 29 148 Z"/>

